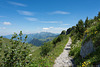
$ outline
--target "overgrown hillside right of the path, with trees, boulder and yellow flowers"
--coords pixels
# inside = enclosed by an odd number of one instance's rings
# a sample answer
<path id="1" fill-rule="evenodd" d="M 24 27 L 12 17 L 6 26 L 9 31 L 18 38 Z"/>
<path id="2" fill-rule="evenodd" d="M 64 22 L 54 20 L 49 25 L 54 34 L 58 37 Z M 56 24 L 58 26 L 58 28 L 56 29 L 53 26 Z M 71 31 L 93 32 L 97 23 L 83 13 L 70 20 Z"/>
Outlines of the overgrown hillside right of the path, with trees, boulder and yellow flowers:
<path id="1" fill-rule="evenodd" d="M 70 56 L 77 66 L 97 66 L 100 63 L 100 12 L 93 19 L 79 20 L 66 31 L 72 39 Z"/>

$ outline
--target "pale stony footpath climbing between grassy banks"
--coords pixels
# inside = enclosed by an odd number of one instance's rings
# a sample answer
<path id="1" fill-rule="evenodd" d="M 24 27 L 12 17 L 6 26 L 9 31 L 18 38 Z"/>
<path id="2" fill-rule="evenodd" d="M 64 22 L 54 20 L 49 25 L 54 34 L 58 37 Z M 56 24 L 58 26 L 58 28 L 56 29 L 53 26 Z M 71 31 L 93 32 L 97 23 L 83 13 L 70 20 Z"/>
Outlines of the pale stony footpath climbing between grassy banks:
<path id="1" fill-rule="evenodd" d="M 69 41 L 66 44 L 64 51 L 59 55 L 59 57 L 56 58 L 55 64 L 53 67 L 73 67 L 73 59 L 69 57 L 69 51 L 71 48 L 71 38 L 69 37 Z"/>

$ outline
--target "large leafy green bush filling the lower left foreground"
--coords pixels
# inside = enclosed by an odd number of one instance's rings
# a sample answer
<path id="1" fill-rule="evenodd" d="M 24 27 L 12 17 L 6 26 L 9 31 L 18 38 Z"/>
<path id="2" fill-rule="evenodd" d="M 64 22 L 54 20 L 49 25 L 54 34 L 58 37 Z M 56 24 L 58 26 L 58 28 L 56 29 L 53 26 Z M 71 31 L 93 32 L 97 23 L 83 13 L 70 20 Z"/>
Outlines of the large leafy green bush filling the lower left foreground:
<path id="1" fill-rule="evenodd" d="M 21 38 L 22 32 L 20 32 L 19 35 Z M 23 67 L 29 63 L 31 45 L 28 45 L 25 42 L 22 43 L 20 38 L 14 33 L 9 40 L 9 44 L 5 43 L 2 38 L 3 43 L 0 45 L 0 67 Z M 25 37 L 25 40 L 26 38 L 27 36 Z"/>

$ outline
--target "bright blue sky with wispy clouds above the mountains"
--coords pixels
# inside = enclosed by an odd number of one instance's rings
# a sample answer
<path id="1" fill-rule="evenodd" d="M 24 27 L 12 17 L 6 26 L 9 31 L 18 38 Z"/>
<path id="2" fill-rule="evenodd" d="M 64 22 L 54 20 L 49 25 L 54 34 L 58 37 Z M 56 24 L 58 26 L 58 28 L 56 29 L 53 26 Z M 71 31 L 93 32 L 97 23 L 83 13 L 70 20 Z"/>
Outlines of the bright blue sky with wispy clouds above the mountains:
<path id="1" fill-rule="evenodd" d="M 60 33 L 99 11 L 100 0 L 0 0 L 0 35 Z"/>

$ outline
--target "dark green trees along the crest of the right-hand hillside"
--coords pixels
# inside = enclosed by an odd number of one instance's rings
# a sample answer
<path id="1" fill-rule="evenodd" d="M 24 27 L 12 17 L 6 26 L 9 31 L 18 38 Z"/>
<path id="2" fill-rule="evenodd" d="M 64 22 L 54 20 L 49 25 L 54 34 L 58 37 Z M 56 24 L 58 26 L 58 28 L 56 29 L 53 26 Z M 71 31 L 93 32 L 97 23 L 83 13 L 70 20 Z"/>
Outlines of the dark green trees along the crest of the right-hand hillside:
<path id="1" fill-rule="evenodd" d="M 96 23 L 100 22 L 100 12 L 98 13 L 98 16 L 94 16 L 94 19 L 88 19 L 86 18 L 85 22 L 83 22 L 82 19 L 78 21 L 78 24 L 76 26 L 72 26 L 71 28 L 67 29 L 67 31 L 62 31 L 61 34 L 70 34 L 71 36 L 77 35 L 77 39 L 82 39 L 84 36 L 84 32 L 87 30 L 87 28 L 90 28 L 91 26 L 95 25 Z"/>

